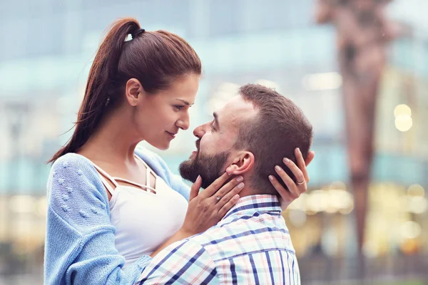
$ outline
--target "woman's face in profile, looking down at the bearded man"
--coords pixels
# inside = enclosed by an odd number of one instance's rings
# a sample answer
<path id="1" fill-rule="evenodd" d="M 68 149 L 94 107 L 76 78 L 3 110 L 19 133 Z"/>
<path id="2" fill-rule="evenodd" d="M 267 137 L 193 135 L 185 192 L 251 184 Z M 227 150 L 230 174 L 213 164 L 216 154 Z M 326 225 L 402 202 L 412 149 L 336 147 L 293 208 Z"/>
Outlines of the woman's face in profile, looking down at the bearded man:
<path id="1" fill-rule="evenodd" d="M 189 128 L 189 108 L 195 102 L 199 79 L 196 74 L 183 76 L 168 90 L 146 94 L 138 100 L 134 120 L 143 140 L 166 150 L 178 130 Z"/>

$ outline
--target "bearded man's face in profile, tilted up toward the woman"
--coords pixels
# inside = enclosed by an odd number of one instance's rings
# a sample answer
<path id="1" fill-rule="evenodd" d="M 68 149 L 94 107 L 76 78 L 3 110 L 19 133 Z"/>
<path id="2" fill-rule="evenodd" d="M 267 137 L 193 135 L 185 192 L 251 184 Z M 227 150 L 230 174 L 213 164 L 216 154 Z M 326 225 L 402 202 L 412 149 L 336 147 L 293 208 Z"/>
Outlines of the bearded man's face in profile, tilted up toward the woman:
<path id="1" fill-rule="evenodd" d="M 211 185 L 233 161 L 233 145 L 238 138 L 240 123 L 253 118 L 256 113 L 253 103 L 243 100 L 240 95 L 214 112 L 213 120 L 193 130 L 193 135 L 198 138 L 196 150 L 180 164 L 180 175 L 191 182 L 200 175 L 203 188 Z"/>

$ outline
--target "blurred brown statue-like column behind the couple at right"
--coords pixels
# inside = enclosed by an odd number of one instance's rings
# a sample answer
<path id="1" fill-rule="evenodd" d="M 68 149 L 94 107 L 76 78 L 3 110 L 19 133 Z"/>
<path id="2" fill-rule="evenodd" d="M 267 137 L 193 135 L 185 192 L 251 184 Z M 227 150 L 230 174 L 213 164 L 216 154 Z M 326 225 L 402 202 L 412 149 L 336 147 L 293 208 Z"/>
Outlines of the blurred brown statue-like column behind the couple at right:
<path id="1" fill-rule="evenodd" d="M 386 61 L 386 45 L 397 26 L 385 19 L 391 0 L 317 0 L 317 23 L 335 24 L 343 78 L 350 184 L 355 196 L 359 254 L 364 242 L 367 187 L 373 157 L 374 110 Z"/>

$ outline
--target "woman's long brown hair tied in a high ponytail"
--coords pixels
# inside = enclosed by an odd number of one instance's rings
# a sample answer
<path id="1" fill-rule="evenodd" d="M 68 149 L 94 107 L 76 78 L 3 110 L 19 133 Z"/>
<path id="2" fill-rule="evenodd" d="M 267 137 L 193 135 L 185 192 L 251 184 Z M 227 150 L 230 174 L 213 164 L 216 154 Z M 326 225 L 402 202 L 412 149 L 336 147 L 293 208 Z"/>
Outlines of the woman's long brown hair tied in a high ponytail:
<path id="1" fill-rule="evenodd" d="M 129 35 L 133 38 L 126 41 Z M 138 79 L 147 93 L 156 93 L 181 76 L 200 73 L 200 58 L 180 36 L 144 31 L 133 18 L 115 21 L 93 60 L 73 135 L 49 162 L 76 152 L 91 137 L 103 115 L 123 98 L 129 79 Z"/>

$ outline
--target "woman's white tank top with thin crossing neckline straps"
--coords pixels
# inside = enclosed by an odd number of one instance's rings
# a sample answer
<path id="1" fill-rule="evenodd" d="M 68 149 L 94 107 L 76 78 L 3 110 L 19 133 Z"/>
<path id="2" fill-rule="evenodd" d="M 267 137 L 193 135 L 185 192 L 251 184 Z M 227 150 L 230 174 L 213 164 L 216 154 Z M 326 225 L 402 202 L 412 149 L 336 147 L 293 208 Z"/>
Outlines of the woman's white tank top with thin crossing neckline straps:
<path id="1" fill-rule="evenodd" d="M 138 156 L 136 156 L 138 157 Z M 140 157 L 138 157 L 141 160 Z M 146 165 L 146 185 L 111 177 L 93 163 L 100 172 L 101 181 L 111 194 L 110 221 L 116 227 L 115 245 L 125 257 L 126 267 L 143 255 L 152 254 L 166 239 L 180 229 L 184 222 L 188 202 L 171 189 Z M 151 174 L 156 177 L 155 188 L 150 187 Z M 110 180 L 115 188 L 106 181 Z M 119 185 L 118 181 L 130 185 Z"/>

